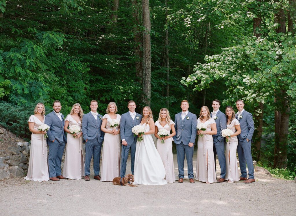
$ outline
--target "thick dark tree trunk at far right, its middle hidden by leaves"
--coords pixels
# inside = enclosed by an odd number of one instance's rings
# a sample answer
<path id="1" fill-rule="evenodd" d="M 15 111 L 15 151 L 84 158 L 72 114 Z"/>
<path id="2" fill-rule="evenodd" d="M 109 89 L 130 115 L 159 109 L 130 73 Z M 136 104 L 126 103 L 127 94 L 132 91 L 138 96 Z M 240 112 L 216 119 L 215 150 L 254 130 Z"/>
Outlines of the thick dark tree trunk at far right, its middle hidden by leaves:
<path id="1" fill-rule="evenodd" d="M 286 20 L 283 9 L 274 16 L 275 23 L 279 23 L 277 33 L 286 33 Z M 287 166 L 287 140 L 289 128 L 290 107 L 287 91 L 281 89 L 275 92 L 274 102 L 274 168 Z"/>

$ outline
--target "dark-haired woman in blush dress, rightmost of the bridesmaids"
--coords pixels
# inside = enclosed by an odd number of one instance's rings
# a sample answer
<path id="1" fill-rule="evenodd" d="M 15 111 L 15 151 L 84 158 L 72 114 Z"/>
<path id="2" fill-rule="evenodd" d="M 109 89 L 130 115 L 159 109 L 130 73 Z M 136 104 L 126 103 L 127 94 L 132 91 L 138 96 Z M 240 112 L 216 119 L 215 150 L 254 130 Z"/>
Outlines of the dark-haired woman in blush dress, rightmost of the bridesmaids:
<path id="1" fill-rule="evenodd" d="M 226 177 L 228 183 L 239 181 L 239 168 L 237 166 L 237 135 L 241 133 L 239 121 L 235 118 L 234 109 L 231 106 L 226 107 L 227 128 L 234 134 L 226 137 L 229 141 L 226 143 Z"/>

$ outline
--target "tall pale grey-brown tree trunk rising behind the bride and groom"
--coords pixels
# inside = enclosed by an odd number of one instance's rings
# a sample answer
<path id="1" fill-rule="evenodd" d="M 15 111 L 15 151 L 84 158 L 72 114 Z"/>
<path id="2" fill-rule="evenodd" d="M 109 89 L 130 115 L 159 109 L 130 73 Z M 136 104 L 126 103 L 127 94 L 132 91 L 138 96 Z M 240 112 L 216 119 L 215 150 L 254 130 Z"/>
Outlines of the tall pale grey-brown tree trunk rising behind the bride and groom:
<path id="1" fill-rule="evenodd" d="M 143 7 L 143 103 L 150 106 L 151 102 L 151 41 L 150 41 L 150 11 L 149 0 L 142 0 Z"/>

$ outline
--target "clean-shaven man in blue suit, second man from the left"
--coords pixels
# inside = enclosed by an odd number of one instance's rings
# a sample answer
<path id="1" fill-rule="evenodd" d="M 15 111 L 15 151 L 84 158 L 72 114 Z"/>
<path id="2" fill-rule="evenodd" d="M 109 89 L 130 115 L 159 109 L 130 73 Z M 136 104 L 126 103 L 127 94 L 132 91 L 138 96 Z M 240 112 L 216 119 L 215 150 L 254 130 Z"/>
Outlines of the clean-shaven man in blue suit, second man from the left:
<path id="1" fill-rule="evenodd" d="M 94 156 L 94 179 L 101 180 L 100 173 L 100 158 L 102 143 L 105 133 L 101 131 L 102 115 L 97 113 L 98 102 L 92 100 L 91 112 L 85 114 L 82 119 L 82 133 L 85 140 L 85 181 L 89 181 L 91 158 Z"/>

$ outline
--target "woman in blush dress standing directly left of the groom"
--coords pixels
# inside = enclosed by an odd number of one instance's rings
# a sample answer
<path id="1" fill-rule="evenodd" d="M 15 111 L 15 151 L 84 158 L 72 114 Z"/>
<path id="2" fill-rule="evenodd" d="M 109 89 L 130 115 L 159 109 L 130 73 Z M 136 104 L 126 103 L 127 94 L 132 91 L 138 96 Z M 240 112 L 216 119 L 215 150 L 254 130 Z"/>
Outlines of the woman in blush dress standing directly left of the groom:
<path id="1" fill-rule="evenodd" d="M 110 102 L 106 113 L 102 117 L 101 130 L 105 132 L 102 155 L 102 174 L 101 181 L 112 181 L 120 176 L 120 114 L 116 114 L 117 106 Z M 117 120 L 116 127 L 110 127 L 112 120 Z"/>

